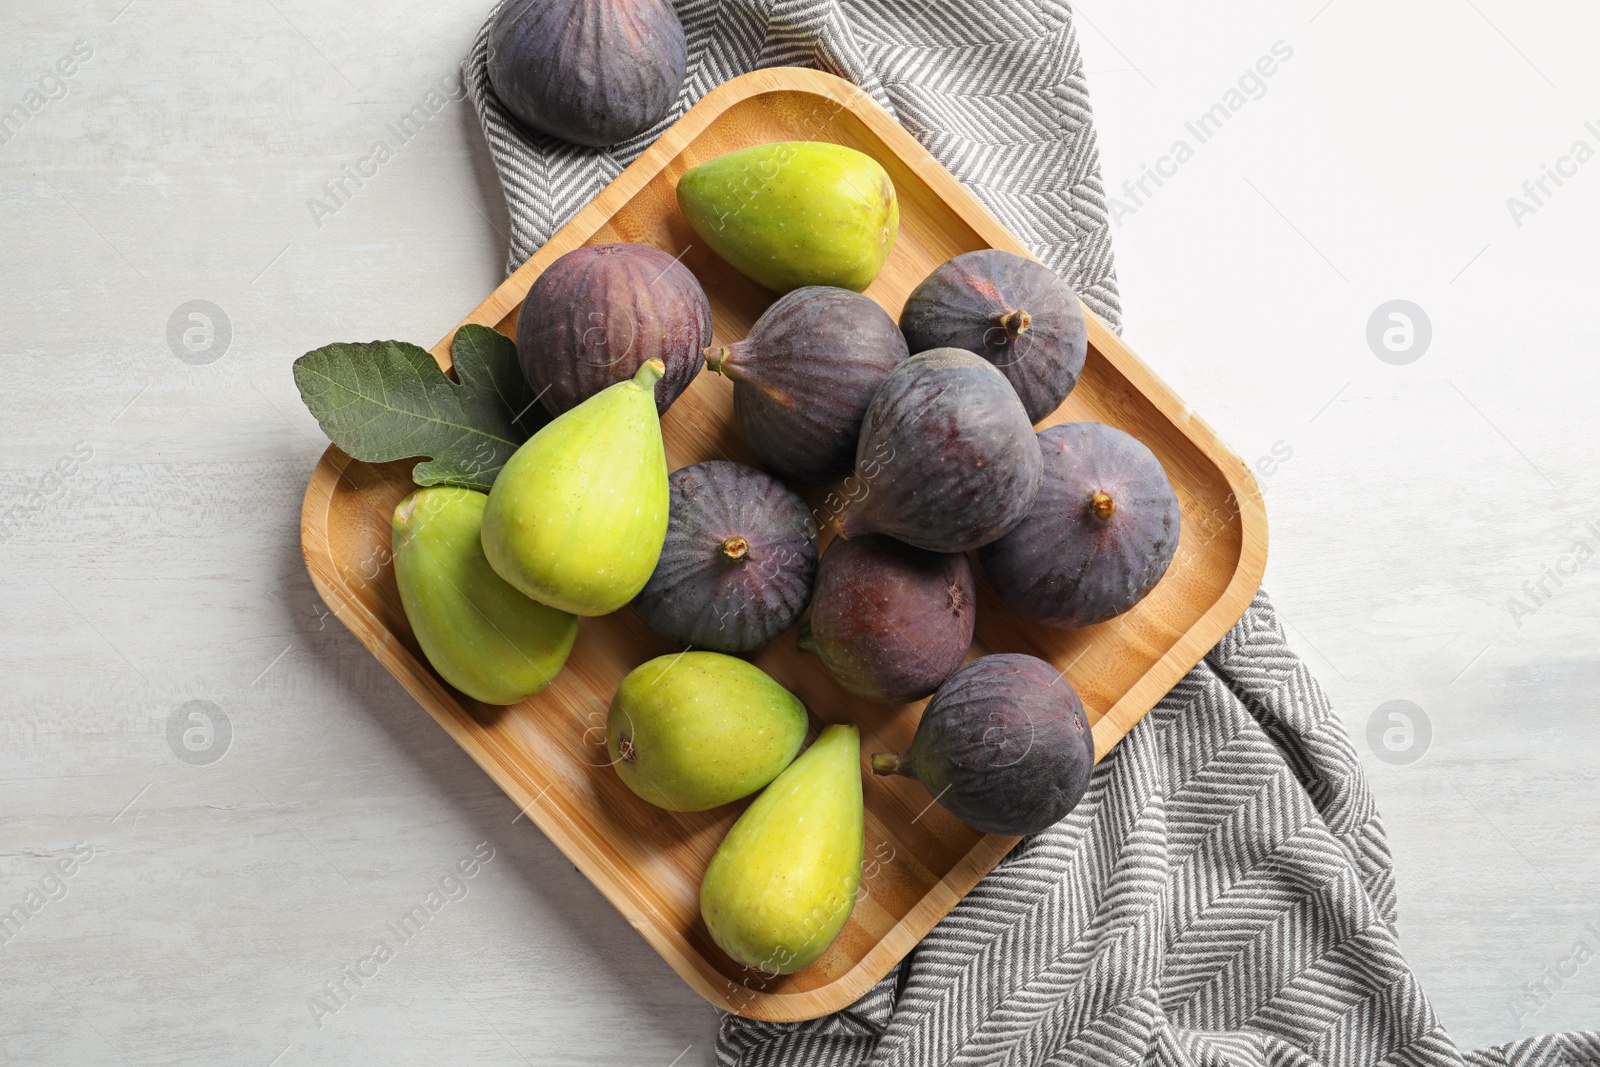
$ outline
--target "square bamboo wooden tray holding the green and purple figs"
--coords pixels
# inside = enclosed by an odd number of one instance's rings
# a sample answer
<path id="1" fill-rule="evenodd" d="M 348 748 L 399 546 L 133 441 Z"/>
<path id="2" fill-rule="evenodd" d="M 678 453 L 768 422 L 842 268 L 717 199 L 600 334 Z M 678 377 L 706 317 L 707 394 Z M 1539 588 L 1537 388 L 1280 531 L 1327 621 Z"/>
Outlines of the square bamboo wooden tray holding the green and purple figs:
<path id="1" fill-rule="evenodd" d="M 877 158 L 899 194 L 899 240 L 867 290 L 899 317 L 933 267 L 976 248 L 1024 253 L 931 155 L 861 90 L 805 69 L 757 70 L 709 93 L 464 322 L 515 336 L 517 310 L 554 259 L 586 243 L 638 242 L 682 253 L 710 294 L 718 344 L 744 338 L 774 299 L 699 243 L 678 214 L 690 166 L 770 141 L 834 141 Z M 454 331 L 451 331 L 454 336 Z M 448 338 L 434 355 L 450 366 Z M 1098 419 L 1149 445 L 1182 502 L 1178 558 L 1126 616 L 1070 633 L 1019 625 L 982 589 L 974 654 L 1024 651 L 1066 670 L 1094 723 L 1101 755 L 1243 614 L 1261 581 L 1267 522 L 1250 472 L 1102 322 L 1072 397 L 1046 422 Z M 662 421 L 667 462 L 752 462 L 731 422 L 731 386 L 701 374 Z M 699 917 L 699 880 L 744 805 L 678 814 L 638 800 L 608 768 L 605 717 L 632 667 L 672 651 L 632 613 L 581 622 L 566 670 L 515 707 L 477 704 L 427 667 L 389 566 L 389 517 L 413 490 L 411 462 L 370 466 L 336 448 L 306 490 L 301 534 L 312 581 L 334 614 L 526 811 L 701 995 L 754 1019 L 811 1019 L 845 1008 L 883 977 L 1005 856 L 1016 838 L 970 830 L 922 785 L 866 774 L 867 865 L 850 925 L 819 961 L 790 976 L 742 969 Z M 816 502 L 816 501 L 813 501 Z M 850 696 L 800 653 L 794 632 L 754 661 L 797 693 L 819 723 L 861 726 L 862 752 L 901 752 L 920 704 Z"/>

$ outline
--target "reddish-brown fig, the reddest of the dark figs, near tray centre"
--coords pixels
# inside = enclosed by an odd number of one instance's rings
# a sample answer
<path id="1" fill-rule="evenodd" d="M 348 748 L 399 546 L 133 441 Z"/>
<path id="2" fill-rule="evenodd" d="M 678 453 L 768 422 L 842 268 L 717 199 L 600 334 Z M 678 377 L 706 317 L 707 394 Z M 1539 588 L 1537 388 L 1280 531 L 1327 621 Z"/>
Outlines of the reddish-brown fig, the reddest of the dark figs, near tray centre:
<path id="1" fill-rule="evenodd" d="M 893 537 L 834 537 L 800 646 L 838 685 L 888 704 L 918 701 L 950 677 L 973 643 L 973 565 Z"/>

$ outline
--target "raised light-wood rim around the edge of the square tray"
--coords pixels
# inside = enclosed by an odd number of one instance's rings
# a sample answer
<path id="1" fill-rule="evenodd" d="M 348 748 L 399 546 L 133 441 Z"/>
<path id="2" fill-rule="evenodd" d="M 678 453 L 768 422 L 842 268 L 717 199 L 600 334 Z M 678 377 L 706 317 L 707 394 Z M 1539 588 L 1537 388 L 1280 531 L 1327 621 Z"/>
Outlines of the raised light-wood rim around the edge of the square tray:
<path id="1" fill-rule="evenodd" d="M 1022 256 L 1032 253 L 955 179 L 933 155 L 864 90 L 835 75 L 810 67 L 766 67 L 739 75 L 717 86 L 669 126 L 634 163 L 622 170 L 600 194 L 581 208 L 526 262 L 514 270 L 494 291 L 434 346 L 432 355 L 450 368 L 450 339 L 467 323 L 494 328 L 522 302 L 533 280 L 555 258 L 587 242 L 616 211 L 630 202 L 691 141 L 734 104 L 770 93 L 810 93 L 840 110 L 850 110 L 874 136 L 882 139 L 901 162 L 914 170 L 930 189 L 952 205 L 992 248 Z M 1238 565 L 1227 585 L 1174 645 L 1128 688 L 1094 725 L 1098 758 L 1112 747 L 1176 685 L 1218 640 L 1243 616 L 1259 589 L 1267 557 L 1266 506 L 1245 462 L 1200 419 L 1178 395 L 1155 376 L 1139 357 L 1088 307 L 1090 344 L 1182 434 L 1205 459 L 1216 467 L 1238 507 Z M 752 990 L 730 981 L 704 961 L 654 918 L 637 907 L 622 880 L 590 861 L 582 833 L 566 825 L 560 814 L 536 801 L 554 785 L 522 774 L 509 761 L 498 758 L 494 737 L 461 707 L 454 694 L 434 672 L 411 656 L 381 619 L 357 597 L 344 592 L 334 566 L 328 533 L 333 493 L 349 464 L 354 462 L 338 446 L 330 445 L 312 470 L 301 506 L 301 545 L 312 585 L 333 614 L 373 653 L 429 715 L 445 728 L 456 744 L 488 773 L 518 809 L 576 864 L 589 881 L 632 925 L 645 941 L 683 977 L 691 989 L 712 1005 L 752 1019 L 789 1022 L 814 1019 L 854 1003 L 894 963 L 950 912 L 955 904 L 1016 845 L 1019 838 L 982 837 L 944 878 L 845 974 L 827 985 L 792 993 Z"/>

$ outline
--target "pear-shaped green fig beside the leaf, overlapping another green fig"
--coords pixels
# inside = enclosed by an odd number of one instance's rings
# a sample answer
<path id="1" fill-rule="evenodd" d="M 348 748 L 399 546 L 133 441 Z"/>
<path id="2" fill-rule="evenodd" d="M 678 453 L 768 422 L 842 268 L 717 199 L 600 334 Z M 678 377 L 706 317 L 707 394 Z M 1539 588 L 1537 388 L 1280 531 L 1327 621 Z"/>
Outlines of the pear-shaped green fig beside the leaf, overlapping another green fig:
<path id="1" fill-rule="evenodd" d="M 667 536 L 667 456 L 656 416 L 661 360 L 534 434 L 483 512 L 483 555 L 539 603 L 610 614 L 656 569 Z"/>

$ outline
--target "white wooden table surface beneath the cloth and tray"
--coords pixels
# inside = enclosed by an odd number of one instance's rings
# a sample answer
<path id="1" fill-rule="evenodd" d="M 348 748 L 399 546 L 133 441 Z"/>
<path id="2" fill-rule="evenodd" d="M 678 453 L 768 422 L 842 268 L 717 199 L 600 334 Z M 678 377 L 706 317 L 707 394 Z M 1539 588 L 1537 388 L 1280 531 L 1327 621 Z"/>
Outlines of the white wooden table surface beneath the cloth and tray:
<path id="1" fill-rule="evenodd" d="M 1597 1025 L 1600 163 L 1562 157 L 1600 150 L 1600 16 L 1322 5 L 1078 8 L 1126 336 L 1262 461 L 1267 587 L 1368 757 L 1445 1024 Z M 290 362 L 432 344 L 501 275 L 466 102 L 325 187 L 485 6 L 0 10 L 0 910 L 30 912 L 0 1062 L 712 1061 L 714 1013 L 301 563 L 325 442 Z M 1571 173 L 1534 203 L 1541 165 Z M 1368 346 L 1392 299 L 1419 357 Z M 1390 707 L 1368 747 L 1389 701 L 1426 744 Z"/>

